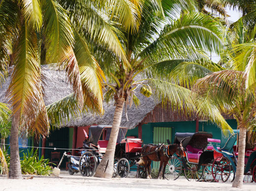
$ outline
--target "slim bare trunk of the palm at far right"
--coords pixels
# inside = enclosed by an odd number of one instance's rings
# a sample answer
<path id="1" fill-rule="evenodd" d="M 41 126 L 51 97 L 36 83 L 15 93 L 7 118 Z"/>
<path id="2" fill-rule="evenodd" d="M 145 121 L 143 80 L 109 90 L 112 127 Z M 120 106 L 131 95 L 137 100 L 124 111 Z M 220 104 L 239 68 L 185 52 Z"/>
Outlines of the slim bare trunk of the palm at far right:
<path id="1" fill-rule="evenodd" d="M 235 180 L 232 184 L 234 188 L 242 188 L 244 179 L 245 167 L 245 143 L 246 143 L 246 128 L 240 127 L 239 142 L 238 142 L 238 159 L 235 173 Z"/>

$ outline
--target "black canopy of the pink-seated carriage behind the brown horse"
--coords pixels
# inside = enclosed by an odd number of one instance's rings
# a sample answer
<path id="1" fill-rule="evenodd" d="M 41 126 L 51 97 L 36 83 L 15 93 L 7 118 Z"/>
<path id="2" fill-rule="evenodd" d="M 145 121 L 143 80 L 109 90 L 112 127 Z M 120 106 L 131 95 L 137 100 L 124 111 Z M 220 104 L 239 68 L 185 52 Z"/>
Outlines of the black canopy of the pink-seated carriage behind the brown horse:
<path id="1" fill-rule="evenodd" d="M 182 145 L 186 148 L 187 145 L 190 145 L 197 149 L 205 149 L 208 144 L 207 138 L 212 138 L 211 133 L 176 133 L 174 143 L 179 144 L 182 141 Z"/>

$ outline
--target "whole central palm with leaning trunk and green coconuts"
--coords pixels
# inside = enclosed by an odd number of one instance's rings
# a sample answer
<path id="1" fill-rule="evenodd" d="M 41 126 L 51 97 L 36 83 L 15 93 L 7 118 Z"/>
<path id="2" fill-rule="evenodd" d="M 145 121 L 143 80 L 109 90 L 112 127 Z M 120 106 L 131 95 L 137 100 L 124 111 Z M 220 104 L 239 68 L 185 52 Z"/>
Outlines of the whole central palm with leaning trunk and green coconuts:
<path id="1" fill-rule="evenodd" d="M 116 108 L 107 151 L 96 169 L 96 177 L 112 176 L 114 150 L 124 104 L 126 108 L 133 102 L 139 103 L 134 90 L 141 88 L 141 93 L 146 97 L 154 94 L 163 104 L 169 102 L 173 109 L 189 114 L 196 109 L 190 96 L 191 91 L 174 84 L 172 79 L 168 81 L 165 78 L 166 70 L 183 61 L 205 57 L 203 50 L 220 50 L 222 33 L 217 20 L 200 13 L 186 14 L 183 10 L 179 19 L 164 26 L 166 20 L 163 16 L 172 15 L 180 5 L 177 1 L 173 1 L 173 4 L 168 1 L 167 7 L 166 2 L 163 0 L 162 6 L 156 6 L 152 1 L 142 3 L 138 31 L 123 32 L 125 38 L 121 42 L 129 61 L 128 67 L 114 55 L 100 55 L 101 58 L 105 56 L 101 60 L 102 69 L 108 76 L 106 97 L 107 100 L 114 98 Z M 163 10 L 163 14 L 159 10 Z M 218 109 L 209 106 L 201 104 L 198 115 L 210 113 L 212 121 L 223 128 L 230 128 L 219 112 L 217 116 L 215 111 Z"/>

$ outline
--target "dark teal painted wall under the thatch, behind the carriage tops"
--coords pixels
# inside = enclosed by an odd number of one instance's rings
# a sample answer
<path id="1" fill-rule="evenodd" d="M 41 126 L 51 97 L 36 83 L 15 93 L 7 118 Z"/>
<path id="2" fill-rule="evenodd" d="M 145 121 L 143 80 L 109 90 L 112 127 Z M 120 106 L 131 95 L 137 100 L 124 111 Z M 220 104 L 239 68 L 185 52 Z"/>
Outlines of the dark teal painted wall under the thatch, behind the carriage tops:
<path id="1" fill-rule="evenodd" d="M 236 120 L 226 120 L 232 129 L 237 128 Z M 161 123 L 148 123 L 142 126 L 142 140 L 144 143 L 153 143 L 153 129 L 154 127 L 172 127 L 173 134 L 170 137 L 171 142 L 174 141 L 175 133 L 194 133 L 195 132 L 195 121 L 181 121 L 181 122 L 161 122 Z M 213 138 L 219 138 L 221 136 L 220 129 L 210 122 L 199 122 L 199 131 L 209 132 L 213 134 Z M 126 136 L 138 136 L 138 127 L 128 130 Z"/>

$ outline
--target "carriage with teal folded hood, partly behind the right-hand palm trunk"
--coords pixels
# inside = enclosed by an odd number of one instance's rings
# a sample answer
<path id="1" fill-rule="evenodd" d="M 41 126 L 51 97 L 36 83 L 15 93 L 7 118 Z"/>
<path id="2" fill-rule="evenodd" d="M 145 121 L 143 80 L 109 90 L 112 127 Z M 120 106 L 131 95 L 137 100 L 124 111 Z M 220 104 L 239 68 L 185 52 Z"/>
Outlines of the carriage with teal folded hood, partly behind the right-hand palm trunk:
<path id="1" fill-rule="evenodd" d="M 220 140 L 209 140 L 214 148 L 214 162 L 211 168 L 212 180 L 219 182 L 233 181 L 235 178 L 238 148 L 235 145 L 239 130 L 234 134 L 225 132 L 227 136 L 221 135 Z M 219 143 L 219 144 L 218 144 Z M 245 150 L 244 181 L 256 182 L 256 147 Z M 209 175 L 210 176 L 210 175 Z"/>

